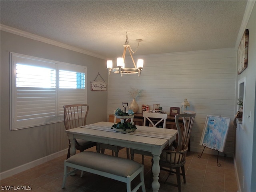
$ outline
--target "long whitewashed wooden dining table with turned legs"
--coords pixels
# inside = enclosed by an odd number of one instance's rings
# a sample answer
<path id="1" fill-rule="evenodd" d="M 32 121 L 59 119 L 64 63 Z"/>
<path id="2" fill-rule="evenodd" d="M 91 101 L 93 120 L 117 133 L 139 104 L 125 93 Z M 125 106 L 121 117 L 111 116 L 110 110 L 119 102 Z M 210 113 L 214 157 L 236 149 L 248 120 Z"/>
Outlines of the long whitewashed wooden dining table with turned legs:
<path id="1" fill-rule="evenodd" d="M 158 181 L 160 173 L 160 154 L 162 149 L 170 145 L 176 139 L 178 131 L 174 129 L 137 126 L 137 130 L 134 132 L 120 133 L 111 129 L 112 125 L 112 122 L 98 122 L 66 130 L 71 144 L 71 156 L 76 154 L 75 139 L 149 151 L 152 153 L 154 161 L 152 166 L 152 189 L 153 192 L 158 192 L 160 188 Z"/>

